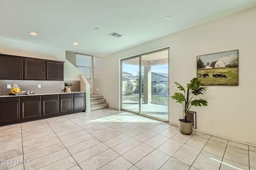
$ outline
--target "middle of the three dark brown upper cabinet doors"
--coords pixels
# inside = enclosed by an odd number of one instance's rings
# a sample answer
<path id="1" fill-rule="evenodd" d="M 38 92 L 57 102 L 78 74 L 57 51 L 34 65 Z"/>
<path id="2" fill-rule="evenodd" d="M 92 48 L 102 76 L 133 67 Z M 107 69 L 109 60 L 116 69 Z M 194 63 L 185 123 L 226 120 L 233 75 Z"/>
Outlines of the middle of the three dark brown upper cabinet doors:
<path id="1" fill-rule="evenodd" d="M 45 80 L 45 61 L 24 59 L 24 80 Z"/>

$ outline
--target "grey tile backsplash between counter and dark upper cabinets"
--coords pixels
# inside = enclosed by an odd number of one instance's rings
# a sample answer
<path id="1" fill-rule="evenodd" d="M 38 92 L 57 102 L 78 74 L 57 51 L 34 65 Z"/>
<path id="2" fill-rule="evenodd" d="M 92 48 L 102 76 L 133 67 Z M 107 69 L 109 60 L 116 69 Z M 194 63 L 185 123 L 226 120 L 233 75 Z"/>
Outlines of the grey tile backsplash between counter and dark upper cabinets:
<path id="1" fill-rule="evenodd" d="M 71 82 L 70 86 L 72 92 L 80 91 L 80 81 L 64 80 L 64 81 L 40 81 L 40 80 L 0 80 L 0 95 L 7 95 L 10 89 L 7 89 L 7 84 L 11 86 L 18 84 L 22 91 L 34 91 L 35 93 L 50 93 L 50 92 L 64 92 L 64 83 Z M 38 88 L 41 84 L 41 88 Z"/>

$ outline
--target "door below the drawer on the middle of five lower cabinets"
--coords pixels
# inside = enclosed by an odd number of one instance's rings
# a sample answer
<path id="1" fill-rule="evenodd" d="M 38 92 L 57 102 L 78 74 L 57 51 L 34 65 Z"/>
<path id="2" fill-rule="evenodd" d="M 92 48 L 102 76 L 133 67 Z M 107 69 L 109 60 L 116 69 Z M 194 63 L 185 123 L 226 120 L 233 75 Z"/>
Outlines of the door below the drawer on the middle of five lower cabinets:
<path id="1" fill-rule="evenodd" d="M 42 115 L 59 113 L 59 99 L 42 100 Z"/>

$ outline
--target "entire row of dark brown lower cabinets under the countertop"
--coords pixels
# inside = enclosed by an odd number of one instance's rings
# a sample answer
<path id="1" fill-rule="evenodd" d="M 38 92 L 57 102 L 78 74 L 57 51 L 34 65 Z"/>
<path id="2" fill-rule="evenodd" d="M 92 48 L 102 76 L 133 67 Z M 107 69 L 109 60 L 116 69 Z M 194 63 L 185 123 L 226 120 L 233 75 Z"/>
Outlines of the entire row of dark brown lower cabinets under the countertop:
<path id="1" fill-rule="evenodd" d="M 0 98 L 0 125 L 84 111 L 85 93 Z"/>

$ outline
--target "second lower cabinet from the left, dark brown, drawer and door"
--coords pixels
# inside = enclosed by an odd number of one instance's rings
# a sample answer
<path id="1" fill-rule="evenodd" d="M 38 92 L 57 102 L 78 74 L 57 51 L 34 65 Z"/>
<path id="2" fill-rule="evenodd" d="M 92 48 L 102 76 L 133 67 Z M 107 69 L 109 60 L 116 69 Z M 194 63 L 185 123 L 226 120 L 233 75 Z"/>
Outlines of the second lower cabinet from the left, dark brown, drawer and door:
<path id="1" fill-rule="evenodd" d="M 41 96 L 21 97 L 21 119 L 41 116 Z"/>

